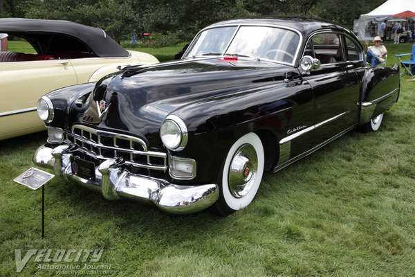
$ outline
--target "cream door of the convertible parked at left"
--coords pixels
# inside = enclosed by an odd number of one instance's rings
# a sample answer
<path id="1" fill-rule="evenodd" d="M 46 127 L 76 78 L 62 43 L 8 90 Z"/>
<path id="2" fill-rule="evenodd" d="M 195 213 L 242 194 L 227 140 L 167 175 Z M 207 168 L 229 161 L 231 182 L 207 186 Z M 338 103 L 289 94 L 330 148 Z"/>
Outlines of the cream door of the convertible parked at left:
<path id="1" fill-rule="evenodd" d="M 77 78 L 68 60 L 0 62 L 0 140 L 44 129 L 37 100 L 71 84 Z"/>

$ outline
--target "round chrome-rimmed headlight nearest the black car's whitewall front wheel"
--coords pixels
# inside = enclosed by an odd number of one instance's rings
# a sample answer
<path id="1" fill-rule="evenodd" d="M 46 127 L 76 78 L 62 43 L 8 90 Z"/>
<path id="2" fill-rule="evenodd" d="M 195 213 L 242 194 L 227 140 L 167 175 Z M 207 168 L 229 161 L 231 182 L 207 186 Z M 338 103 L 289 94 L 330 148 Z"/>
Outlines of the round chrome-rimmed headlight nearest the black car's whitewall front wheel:
<path id="1" fill-rule="evenodd" d="M 160 126 L 160 138 L 169 150 L 180 151 L 187 144 L 187 128 L 178 116 L 167 116 Z"/>

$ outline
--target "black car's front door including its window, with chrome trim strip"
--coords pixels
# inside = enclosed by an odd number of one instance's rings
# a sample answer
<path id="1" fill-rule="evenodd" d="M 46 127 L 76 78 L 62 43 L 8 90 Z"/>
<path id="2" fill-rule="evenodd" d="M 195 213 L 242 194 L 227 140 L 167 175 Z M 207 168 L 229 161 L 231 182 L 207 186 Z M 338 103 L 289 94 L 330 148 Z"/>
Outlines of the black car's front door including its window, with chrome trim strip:
<path id="1" fill-rule="evenodd" d="M 320 69 L 305 79 L 313 88 L 313 144 L 321 145 L 347 132 L 358 123 L 360 83 L 356 69 L 361 62 L 349 62 L 344 35 L 336 31 L 315 33 L 308 39 L 304 54 L 321 62 Z"/>

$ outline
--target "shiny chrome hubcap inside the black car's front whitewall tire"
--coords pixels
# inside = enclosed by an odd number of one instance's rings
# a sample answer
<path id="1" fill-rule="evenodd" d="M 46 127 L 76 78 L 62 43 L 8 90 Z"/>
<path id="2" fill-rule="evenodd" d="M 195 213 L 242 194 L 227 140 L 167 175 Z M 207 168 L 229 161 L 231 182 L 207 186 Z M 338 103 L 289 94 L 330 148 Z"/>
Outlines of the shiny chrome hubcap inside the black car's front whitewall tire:
<path id="1" fill-rule="evenodd" d="M 228 184 L 230 193 L 236 198 L 244 197 L 255 183 L 258 172 L 258 157 L 250 144 L 242 145 L 230 162 Z"/>

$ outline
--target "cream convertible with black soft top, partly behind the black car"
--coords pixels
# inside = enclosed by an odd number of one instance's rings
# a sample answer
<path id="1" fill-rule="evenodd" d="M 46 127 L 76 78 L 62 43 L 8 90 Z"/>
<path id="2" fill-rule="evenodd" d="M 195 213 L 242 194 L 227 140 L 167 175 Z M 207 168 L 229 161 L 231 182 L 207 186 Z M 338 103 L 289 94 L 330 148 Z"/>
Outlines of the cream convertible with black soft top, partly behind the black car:
<path id="1" fill-rule="evenodd" d="M 45 129 L 36 103 L 49 91 L 99 80 L 117 66 L 158 62 L 125 50 L 104 30 L 70 21 L 0 18 L 0 33 L 36 51 L 0 52 L 0 140 Z"/>

